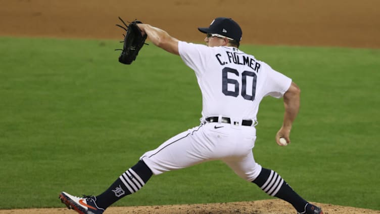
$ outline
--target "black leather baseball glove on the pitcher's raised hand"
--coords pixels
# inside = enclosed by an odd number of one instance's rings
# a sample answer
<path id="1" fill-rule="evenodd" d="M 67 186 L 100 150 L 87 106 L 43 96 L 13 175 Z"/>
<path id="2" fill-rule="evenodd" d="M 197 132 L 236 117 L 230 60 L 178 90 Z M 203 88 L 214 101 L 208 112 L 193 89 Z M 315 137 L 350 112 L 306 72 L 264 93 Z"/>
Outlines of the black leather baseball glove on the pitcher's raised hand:
<path id="1" fill-rule="evenodd" d="M 138 23 L 142 22 L 134 20 L 130 22 L 129 25 L 126 25 L 120 17 L 119 19 L 126 28 L 119 24 L 116 24 L 116 26 L 123 28 L 126 31 L 126 35 L 123 34 L 124 41 L 120 41 L 124 42 L 123 49 L 116 49 L 115 51 L 122 51 L 119 56 L 119 62 L 129 65 L 136 59 L 140 49 L 143 48 L 147 34 L 142 35 L 140 28 L 137 26 Z"/>

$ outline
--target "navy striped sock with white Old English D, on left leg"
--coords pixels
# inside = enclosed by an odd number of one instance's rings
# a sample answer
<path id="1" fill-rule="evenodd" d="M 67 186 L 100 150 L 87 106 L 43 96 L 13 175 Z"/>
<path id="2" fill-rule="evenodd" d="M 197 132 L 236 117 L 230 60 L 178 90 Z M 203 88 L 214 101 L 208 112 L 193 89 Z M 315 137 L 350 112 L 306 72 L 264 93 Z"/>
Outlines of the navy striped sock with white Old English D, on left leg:
<path id="1" fill-rule="evenodd" d="M 151 169 L 140 160 L 136 165 L 125 171 L 116 181 L 102 194 L 97 196 L 97 205 L 107 208 L 124 196 L 137 192 L 152 177 Z"/>

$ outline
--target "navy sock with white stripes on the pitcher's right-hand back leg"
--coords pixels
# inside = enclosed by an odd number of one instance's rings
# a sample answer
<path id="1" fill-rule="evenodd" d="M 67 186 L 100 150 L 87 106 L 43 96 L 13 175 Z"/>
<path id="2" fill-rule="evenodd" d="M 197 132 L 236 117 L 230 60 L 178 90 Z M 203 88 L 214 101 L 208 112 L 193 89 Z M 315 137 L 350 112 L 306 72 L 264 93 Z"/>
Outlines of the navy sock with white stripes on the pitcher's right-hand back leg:
<path id="1" fill-rule="evenodd" d="M 262 168 L 260 175 L 252 181 L 266 194 L 291 203 L 298 212 L 303 212 L 307 201 L 299 196 L 276 172 Z"/>

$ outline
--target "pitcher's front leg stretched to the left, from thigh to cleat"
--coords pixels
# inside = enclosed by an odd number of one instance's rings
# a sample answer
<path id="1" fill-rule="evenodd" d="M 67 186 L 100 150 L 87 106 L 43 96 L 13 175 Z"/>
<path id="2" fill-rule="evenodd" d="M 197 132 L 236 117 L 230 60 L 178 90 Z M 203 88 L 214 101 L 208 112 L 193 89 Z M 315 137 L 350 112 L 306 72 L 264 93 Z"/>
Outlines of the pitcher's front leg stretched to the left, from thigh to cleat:
<path id="1" fill-rule="evenodd" d="M 140 161 L 126 170 L 102 194 L 89 197 L 75 197 L 62 192 L 61 200 L 79 213 L 103 213 L 117 200 L 141 189 L 152 175 L 185 168 L 208 158 L 202 154 L 203 139 L 202 125 L 180 133 L 161 144 L 157 149 L 146 152 Z"/>

